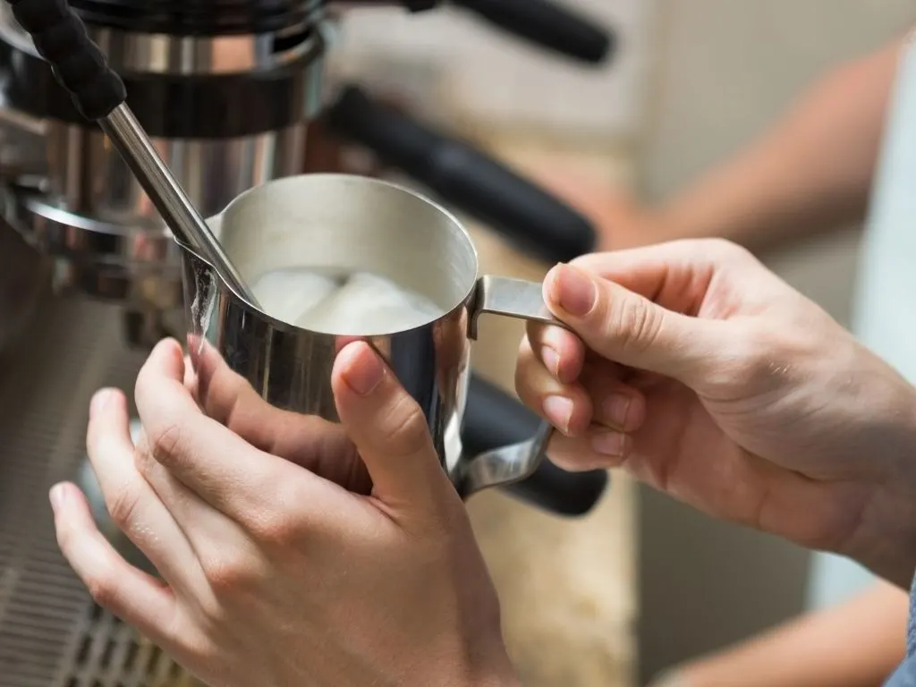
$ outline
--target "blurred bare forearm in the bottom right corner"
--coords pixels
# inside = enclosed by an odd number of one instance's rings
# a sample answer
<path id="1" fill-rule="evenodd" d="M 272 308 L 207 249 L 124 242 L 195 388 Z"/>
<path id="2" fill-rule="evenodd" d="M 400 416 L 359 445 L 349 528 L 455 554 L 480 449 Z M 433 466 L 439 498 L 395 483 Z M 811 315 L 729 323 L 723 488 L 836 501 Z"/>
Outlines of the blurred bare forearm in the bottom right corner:
<path id="1" fill-rule="evenodd" d="M 672 685 L 873 687 L 903 658 L 907 609 L 905 592 L 878 583 L 843 605 L 696 660 Z"/>

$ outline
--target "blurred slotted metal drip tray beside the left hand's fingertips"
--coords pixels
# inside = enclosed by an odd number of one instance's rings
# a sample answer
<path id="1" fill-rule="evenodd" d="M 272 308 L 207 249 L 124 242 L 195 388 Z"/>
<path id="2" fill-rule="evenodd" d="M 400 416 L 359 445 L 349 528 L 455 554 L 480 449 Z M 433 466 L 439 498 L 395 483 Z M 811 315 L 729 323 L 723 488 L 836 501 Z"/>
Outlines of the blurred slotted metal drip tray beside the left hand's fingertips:
<path id="1" fill-rule="evenodd" d="M 89 399 L 131 391 L 144 359 L 123 343 L 122 319 L 110 305 L 45 300 L 0 355 L 0 687 L 196 684 L 93 604 L 54 538 L 48 489 L 78 474 Z"/>

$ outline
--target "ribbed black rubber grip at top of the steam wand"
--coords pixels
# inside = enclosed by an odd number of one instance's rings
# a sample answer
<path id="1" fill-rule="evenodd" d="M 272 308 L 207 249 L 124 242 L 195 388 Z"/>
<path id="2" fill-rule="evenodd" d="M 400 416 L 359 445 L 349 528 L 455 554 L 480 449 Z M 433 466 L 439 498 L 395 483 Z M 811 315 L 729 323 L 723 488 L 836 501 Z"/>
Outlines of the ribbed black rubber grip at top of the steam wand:
<path id="1" fill-rule="evenodd" d="M 82 19 L 67 0 L 7 0 L 13 16 L 35 42 L 35 48 L 54 70 L 54 76 L 73 104 L 95 121 L 124 103 L 124 82 L 105 60 L 102 50 L 86 35 Z"/>

